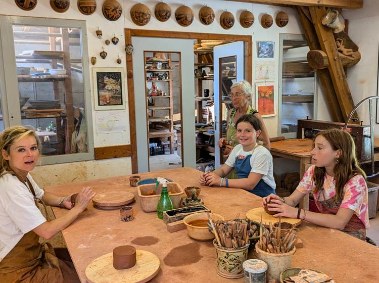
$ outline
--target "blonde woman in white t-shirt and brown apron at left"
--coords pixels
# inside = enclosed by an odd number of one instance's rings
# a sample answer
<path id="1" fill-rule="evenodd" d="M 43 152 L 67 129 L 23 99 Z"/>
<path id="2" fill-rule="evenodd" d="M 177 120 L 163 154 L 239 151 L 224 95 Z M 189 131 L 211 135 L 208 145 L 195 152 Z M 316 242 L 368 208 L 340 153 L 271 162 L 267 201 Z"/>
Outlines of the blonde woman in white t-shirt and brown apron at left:
<path id="1" fill-rule="evenodd" d="M 44 192 L 29 171 L 37 164 L 40 143 L 33 129 L 14 126 L 0 134 L 0 282 L 79 282 L 67 249 L 40 244 L 71 224 L 94 197 L 82 188 L 71 196 Z M 69 211 L 46 221 L 36 203 Z M 46 217 L 48 217 L 46 213 Z"/>

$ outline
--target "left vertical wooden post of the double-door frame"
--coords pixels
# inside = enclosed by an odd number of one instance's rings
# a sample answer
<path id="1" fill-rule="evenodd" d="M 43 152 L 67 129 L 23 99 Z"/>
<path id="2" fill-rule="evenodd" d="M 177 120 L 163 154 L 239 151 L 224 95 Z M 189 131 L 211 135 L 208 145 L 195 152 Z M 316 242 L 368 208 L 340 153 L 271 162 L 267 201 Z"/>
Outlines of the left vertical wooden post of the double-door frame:
<path id="1" fill-rule="evenodd" d="M 131 45 L 131 30 L 125 29 L 125 45 Z M 126 81 L 128 85 L 128 106 L 129 106 L 129 129 L 130 129 L 130 145 L 131 145 L 131 172 L 138 172 L 137 159 L 137 137 L 135 130 L 135 107 L 134 107 L 134 80 L 133 80 L 133 57 L 126 54 Z"/>

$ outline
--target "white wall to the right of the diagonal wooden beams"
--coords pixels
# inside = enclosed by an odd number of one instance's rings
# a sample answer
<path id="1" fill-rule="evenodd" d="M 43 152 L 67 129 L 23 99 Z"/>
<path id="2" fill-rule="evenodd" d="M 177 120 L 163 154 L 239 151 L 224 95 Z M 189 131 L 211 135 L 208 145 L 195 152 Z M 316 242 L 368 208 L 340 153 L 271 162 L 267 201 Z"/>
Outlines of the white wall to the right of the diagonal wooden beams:
<path id="1" fill-rule="evenodd" d="M 347 73 L 350 90 L 356 105 L 366 97 L 377 95 L 379 2 L 377 0 L 364 0 L 363 9 L 344 10 L 342 15 L 349 20 L 349 36 L 359 46 L 359 51 L 362 55 L 360 62 L 349 68 Z M 375 102 L 373 106 L 373 120 L 375 123 Z M 359 119 L 368 125 L 368 102 L 358 109 L 358 115 Z M 379 136 L 379 124 L 374 125 L 374 135 Z"/>

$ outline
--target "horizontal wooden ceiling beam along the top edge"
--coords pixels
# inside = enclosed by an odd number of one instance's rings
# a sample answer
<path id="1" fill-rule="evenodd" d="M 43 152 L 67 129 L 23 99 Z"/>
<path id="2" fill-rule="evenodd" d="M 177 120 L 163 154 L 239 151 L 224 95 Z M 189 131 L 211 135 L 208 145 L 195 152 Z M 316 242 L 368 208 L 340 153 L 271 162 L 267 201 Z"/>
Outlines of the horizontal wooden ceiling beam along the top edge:
<path id="1" fill-rule="evenodd" d="M 344 9 L 361 9 L 363 0 L 225 0 L 266 5 L 323 6 Z"/>

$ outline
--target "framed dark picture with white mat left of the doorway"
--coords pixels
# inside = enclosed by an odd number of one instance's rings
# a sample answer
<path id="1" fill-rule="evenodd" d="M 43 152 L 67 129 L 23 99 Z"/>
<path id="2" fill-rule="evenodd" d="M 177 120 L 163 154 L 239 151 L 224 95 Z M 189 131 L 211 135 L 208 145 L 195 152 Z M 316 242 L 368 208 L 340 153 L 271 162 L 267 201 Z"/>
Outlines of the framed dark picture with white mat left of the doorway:
<path id="1" fill-rule="evenodd" d="M 95 110 L 125 109 L 124 68 L 92 68 Z"/>

